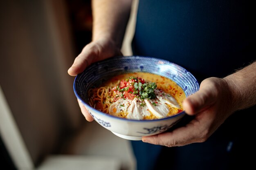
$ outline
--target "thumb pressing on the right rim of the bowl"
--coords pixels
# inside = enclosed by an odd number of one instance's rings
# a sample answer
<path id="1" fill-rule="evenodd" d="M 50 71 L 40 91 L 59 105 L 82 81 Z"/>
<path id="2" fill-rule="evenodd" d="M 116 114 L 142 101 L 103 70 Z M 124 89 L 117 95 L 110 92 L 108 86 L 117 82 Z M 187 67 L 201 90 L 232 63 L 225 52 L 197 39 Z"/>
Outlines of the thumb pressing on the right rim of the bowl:
<path id="1" fill-rule="evenodd" d="M 183 108 L 188 115 L 195 115 L 216 102 L 218 95 L 216 77 L 205 79 L 197 93 L 184 99 Z"/>

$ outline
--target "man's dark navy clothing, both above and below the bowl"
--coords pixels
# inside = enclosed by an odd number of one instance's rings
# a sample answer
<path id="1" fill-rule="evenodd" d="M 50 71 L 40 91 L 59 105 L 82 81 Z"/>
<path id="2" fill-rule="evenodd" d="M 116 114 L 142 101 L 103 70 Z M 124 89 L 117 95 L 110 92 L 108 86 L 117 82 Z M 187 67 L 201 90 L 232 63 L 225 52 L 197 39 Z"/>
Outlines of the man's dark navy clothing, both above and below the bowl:
<path id="1" fill-rule="evenodd" d="M 256 60 L 255 9 L 244 0 L 139 0 L 134 55 L 179 64 L 200 83 Z M 132 141 L 137 170 L 226 170 L 251 166 L 256 107 L 235 113 L 204 143 L 167 148 Z M 177 126 L 193 117 L 187 116 Z M 150 153 L 149 153 L 150 152 Z"/>

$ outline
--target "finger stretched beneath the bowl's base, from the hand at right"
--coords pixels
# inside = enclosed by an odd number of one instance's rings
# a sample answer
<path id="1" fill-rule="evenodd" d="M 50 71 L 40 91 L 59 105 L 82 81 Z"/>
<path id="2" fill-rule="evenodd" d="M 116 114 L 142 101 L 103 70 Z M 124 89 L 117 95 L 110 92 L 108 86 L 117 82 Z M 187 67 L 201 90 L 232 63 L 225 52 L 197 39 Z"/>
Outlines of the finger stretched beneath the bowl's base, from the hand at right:
<path id="1" fill-rule="evenodd" d="M 142 137 L 142 141 L 155 145 L 185 146 L 195 142 L 203 142 L 206 140 L 202 136 L 202 131 L 193 123 L 189 123 L 184 127 L 177 128 L 172 132 L 163 132 L 158 135 Z"/>

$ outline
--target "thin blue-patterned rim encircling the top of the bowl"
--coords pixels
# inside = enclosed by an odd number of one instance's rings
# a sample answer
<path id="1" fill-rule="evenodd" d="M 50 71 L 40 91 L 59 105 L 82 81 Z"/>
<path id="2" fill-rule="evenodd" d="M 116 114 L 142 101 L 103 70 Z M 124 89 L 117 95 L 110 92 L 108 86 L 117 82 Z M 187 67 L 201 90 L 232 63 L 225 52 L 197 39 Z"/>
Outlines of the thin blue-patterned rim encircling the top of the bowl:
<path id="1" fill-rule="evenodd" d="M 174 119 L 175 117 L 179 117 L 179 116 L 182 116 L 182 115 L 185 115 L 185 111 L 183 110 L 182 112 L 176 114 L 176 115 L 172 115 L 172 116 L 169 116 L 169 117 L 164 117 L 164 118 L 161 118 L 161 119 L 153 119 L 153 120 L 134 120 L 134 119 L 124 119 L 124 118 L 121 118 L 121 117 L 116 117 L 116 116 L 112 116 L 112 115 L 109 115 L 107 113 L 103 113 L 95 108 L 93 108 L 92 106 L 90 106 L 89 104 L 87 104 L 86 102 L 83 101 L 83 99 L 78 95 L 78 93 L 76 92 L 76 88 L 75 88 L 75 83 L 76 83 L 76 79 L 77 77 L 79 77 L 80 75 L 82 75 L 88 68 L 90 68 L 91 66 L 93 66 L 94 64 L 101 64 L 101 62 L 103 61 L 108 61 L 108 60 L 111 60 L 113 58 L 120 58 L 120 59 L 123 59 L 125 57 L 140 57 L 140 58 L 145 58 L 145 59 L 157 59 L 157 60 L 162 60 L 168 64 L 173 64 L 175 66 L 179 66 L 180 68 L 184 69 L 184 71 L 187 71 L 186 68 L 183 68 L 182 66 L 178 65 L 178 64 L 175 64 L 173 62 L 170 62 L 168 60 L 164 60 L 164 59 L 161 59 L 161 58 L 155 58 L 155 57 L 148 57 L 148 56 L 115 56 L 115 57 L 111 57 L 111 58 L 108 58 L 108 59 L 105 59 L 105 60 L 101 60 L 99 62 L 95 62 L 93 64 L 91 64 L 90 66 L 88 66 L 87 68 L 85 68 L 85 70 L 76 75 L 75 79 L 74 79 L 74 83 L 73 83 L 73 90 L 74 90 L 74 93 L 76 95 L 76 97 L 79 99 L 80 102 L 82 102 L 86 107 L 89 107 L 91 110 L 93 110 L 95 113 L 99 114 L 99 115 L 102 115 L 104 117 L 109 117 L 109 118 L 112 118 L 112 119 L 116 119 L 116 120 L 121 120 L 121 121 L 130 121 L 130 122 L 154 122 L 154 121 L 164 121 L 164 120 L 168 120 L 168 119 Z M 187 71 L 189 72 L 189 71 Z M 190 72 L 189 72 L 190 73 Z M 191 73 L 190 73 L 191 74 Z M 191 76 L 195 79 L 195 84 L 198 84 L 198 81 L 197 79 L 194 77 L 194 75 L 191 74 Z M 199 89 L 197 89 L 198 91 Z M 88 110 L 88 112 L 90 113 L 90 111 Z M 90 113 L 92 115 L 92 113 Z"/>

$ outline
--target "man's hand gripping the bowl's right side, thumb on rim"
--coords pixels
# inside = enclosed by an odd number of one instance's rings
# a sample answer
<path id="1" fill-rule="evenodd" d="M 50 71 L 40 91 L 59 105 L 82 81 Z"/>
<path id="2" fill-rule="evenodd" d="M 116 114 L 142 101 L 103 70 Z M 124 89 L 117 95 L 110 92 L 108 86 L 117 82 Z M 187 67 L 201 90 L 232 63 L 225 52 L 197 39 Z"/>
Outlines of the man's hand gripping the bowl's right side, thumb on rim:
<path id="1" fill-rule="evenodd" d="M 200 90 L 183 102 L 185 112 L 195 116 L 189 124 L 143 137 L 142 141 L 168 147 L 204 142 L 235 111 L 231 101 L 232 93 L 225 79 L 207 78 L 200 84 Z"/>

